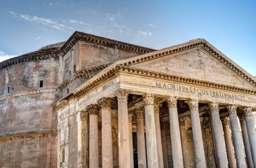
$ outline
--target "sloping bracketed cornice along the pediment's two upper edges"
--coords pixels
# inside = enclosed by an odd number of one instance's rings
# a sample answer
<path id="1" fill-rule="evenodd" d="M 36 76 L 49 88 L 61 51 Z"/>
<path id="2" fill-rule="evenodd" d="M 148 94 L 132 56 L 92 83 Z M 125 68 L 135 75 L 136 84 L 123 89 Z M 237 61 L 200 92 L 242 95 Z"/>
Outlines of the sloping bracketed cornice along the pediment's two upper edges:
<path id="1" fill-rule="evenodd" d="M 155 52 L 150 52 L 148 54 L 143 54 L 141 56 L 135 56 L 133 58 L 127 58 L 121 62 L 121 66 L 132 66 L 132 65 L 137 65 L 142 62 L 146 62 L 149 60 L 154 60 L 156 58 L 162 58 L 164 56 L 170 55 L 170 54 L 177 54 L 179 52 L 184 52 L 187 50 L 190 50 L 192 48 L 201 48 L 205 52 L 211 54 L 222 62 L 223 65 L 228 67 L 231 71 L 236 73 L 238 76 L 242 77 L 245 81 L 247 81 L 249 84 L 251 84 L 253 87 L 256 89 L 256 80 L 255 77 L 247 73 L 244 69 L 236 65 L 230 58 L 222 54 L 219 50 L 214 48 L 210 43 L 203 39 L 199 40 L 194 40 L 192 42 L 187 42 L 185 44 L 180 44 L 178 46 L 172 46 L 170 48 L 164 48 L 162 50 L 157 50 Z"/>

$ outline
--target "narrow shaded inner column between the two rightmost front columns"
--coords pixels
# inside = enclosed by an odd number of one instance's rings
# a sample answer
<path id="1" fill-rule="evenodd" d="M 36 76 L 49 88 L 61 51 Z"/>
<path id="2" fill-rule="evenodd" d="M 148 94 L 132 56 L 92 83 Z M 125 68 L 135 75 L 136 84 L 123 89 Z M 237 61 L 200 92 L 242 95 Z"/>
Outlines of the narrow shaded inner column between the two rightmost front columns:
<path id="1" fill-rule="evenodd" d="M 250 147 L 248 133 L 247 133 L 245 116 L 239 116 L 239 119 L 240 119 L 240 123 L 241 123 L 243 142 L 245 144 L 245 155 L 246 155 L 246 159 L 247 159 L 247 165 L 248 165 L 248 167 L 251 168 L 251 167 L 253 167 L 253 157 L 251 156 L 251 147 Z"/>

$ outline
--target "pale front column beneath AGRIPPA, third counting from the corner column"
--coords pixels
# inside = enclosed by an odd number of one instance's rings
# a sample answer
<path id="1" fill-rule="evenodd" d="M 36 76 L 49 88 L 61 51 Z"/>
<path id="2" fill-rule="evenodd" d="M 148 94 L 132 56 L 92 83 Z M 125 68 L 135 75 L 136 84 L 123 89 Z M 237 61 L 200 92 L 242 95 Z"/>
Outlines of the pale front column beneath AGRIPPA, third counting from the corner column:
<path id="1" fill-rule="evenodd" d="M 181 145 L 181 131 L 179 127 L 179 118 L 177 110 L 177 98 L 169 97 L 167 99 L 167 103 L 170 118 L 170 140 L 172 145 L 173 167 L 184 167 Z"/>

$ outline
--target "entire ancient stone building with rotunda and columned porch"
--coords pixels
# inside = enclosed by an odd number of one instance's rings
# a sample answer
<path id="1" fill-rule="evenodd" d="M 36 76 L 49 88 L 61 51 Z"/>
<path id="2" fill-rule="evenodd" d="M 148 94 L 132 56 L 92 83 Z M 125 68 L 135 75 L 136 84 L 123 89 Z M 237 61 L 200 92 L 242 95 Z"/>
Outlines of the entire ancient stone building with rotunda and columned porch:
<path id="1" fill-rule="evenodd" d="M 256 167 L 256 79 L 204 39 L 75 32 L 0 63 L 2 167 Z"/>

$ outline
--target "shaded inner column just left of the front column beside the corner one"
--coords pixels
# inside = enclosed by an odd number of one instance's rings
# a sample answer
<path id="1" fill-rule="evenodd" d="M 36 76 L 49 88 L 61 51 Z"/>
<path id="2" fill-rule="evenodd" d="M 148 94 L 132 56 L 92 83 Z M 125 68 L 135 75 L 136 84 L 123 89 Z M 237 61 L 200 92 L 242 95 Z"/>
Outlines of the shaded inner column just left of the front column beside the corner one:
<path id="1" fill-rule="evenodd" d="M 146 146 L 145 146 L 145 135 L 144 135 L 144 124 L 143 124 L 143 111 L 138 110 L 136 114 L 136 127 L 137 127 L 137 158 L 138 167 L 146 168 Z"/>

